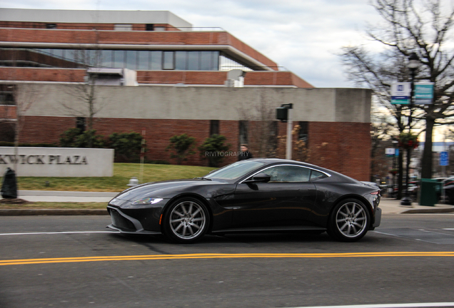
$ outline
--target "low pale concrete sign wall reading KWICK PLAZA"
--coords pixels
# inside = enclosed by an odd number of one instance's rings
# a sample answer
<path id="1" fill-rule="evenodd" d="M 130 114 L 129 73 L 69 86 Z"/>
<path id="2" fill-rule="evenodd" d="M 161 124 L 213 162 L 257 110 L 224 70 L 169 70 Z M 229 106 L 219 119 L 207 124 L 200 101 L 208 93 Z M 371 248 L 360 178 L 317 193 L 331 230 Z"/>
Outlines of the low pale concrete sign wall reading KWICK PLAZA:
<path id="1" fill-rule="evenodd" d="M 31 177 L 104 177 L 114 173 L 113 149 L 87 148 L 14 148 L 0 147 L 0 174 L 6 168 L 14 170 L 16 176 Z"/>

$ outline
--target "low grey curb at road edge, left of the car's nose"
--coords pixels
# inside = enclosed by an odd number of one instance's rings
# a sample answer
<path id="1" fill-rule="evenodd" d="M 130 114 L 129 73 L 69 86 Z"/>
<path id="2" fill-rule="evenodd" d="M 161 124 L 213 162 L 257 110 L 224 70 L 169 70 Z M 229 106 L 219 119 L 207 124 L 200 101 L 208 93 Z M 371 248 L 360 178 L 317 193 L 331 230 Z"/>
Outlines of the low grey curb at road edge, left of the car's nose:
<path id="1" fill-rule="evenodd" d="M 0 209 L 0 216 L 31 216 L 31 215 L 109 215 L 107 210 L 86 209 Z"/>

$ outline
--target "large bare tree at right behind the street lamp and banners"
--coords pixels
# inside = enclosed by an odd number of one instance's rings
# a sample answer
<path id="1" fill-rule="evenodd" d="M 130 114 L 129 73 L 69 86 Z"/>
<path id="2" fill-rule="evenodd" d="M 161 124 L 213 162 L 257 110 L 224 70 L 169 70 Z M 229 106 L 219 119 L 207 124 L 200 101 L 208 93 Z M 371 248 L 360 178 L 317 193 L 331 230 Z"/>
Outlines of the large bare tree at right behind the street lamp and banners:
<path id="1" fill-rule="evenodd" d="M 454 116 L 454 42 L 452 35 L 454 9 L 443 6 L 441 0 L 375 0 L 373 6 L 383 24 L 369 27 L 368 37 L 381 43 L 385 51 L 373 53 L 364 46 L 347 46 L 340 54 L 350 80 L 373 89 L 375 98 L 395 118 L 399 132 L 417 129 L 419 120 L 425 128 L 425 147 L 421 175 L 432 176 L 432 136 L 435 125 L 453 123 Z M 421 66 L 416 81 L 435 83 L 434 103 L 415 106 L 415 122 L 409 127 L 406 106 L 390 104 L 390 85 L 396 81 L 410 81 L 406 68 L 410 53 L 417 53 Z"/>

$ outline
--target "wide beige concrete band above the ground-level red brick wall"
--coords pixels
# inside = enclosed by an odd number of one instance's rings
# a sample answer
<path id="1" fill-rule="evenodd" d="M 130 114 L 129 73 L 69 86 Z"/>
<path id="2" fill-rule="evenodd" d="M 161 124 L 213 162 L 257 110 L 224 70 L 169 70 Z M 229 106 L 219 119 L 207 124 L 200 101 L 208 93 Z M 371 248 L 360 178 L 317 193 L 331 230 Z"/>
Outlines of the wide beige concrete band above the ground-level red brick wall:
<path id="1" fill-rule="evenodd" d="M 30 92 L 29 84 L 21 91 Z M 46 84 L 26 116 L 74 116 L 62 106 L 86 112 L 77 86 Z M 241 110 L 293 103 L 293 120 L 370 123 L 370 90 L 357 88 L 223 88 L 98 86 L 96 118 L 244 120 Z"/>

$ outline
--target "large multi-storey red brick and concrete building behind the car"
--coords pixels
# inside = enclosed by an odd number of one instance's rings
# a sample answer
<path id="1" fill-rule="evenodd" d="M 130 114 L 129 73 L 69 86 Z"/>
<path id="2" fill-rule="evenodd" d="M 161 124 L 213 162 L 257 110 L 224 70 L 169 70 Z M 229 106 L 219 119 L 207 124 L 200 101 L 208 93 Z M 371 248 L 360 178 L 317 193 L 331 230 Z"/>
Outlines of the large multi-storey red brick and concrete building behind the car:
<path id="1" fill-rule="evenodd" d="M 0 118 L 14 120 L 19 111 L 21 142 L 58 143 L 80 123 L 84 110 L 73 90 L 87 81 L 87 68 L 136 71 L 138 86 L 96 86 L 104 108 L 94 128 L 102 135 L 146 130 L 150 160 L 170 160 L 168 140 L 181 133 L 197 145 L 219 133 L 231 150 L 248 142 L 258 153 L 263 122 L 277 148 L 267 155 L 280 155 L 285 123 L 271 118 L 274 108 L 293 103 L 304 160 L 369 178 L 370 91 L 313 88 L 228 32 L 195 29 L 168 11 L 0 9 Z M 246 72 L 235 80 L 241 88 L 228 86 L 233 69 Z M 32 104 L 16 109 L 35 92 Z M 206 161 L 193 155 L 188 163 Z"/>

